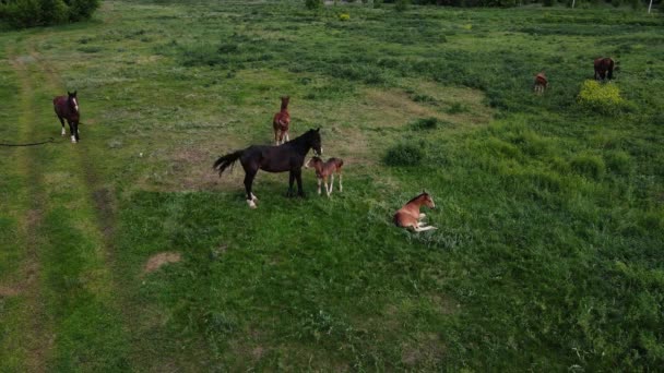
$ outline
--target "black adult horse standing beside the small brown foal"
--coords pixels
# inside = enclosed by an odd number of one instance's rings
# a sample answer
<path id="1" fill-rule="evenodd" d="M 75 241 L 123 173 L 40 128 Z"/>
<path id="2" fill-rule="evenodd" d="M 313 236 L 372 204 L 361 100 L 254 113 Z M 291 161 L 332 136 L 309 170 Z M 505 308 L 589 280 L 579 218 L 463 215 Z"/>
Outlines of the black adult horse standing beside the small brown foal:
<path id="1" fill-rule="evenodd" d="M 301 168 L 309 149 L 322 154 L 320 129 L 309 130 L 299 137 L 281 146 L 251 145 L 245 149 L 227 154 L 214 163 L 214 169 L 220 177 L 226 168 L 233 166 L 238 159 L 245 169 L 245 191 L 249 207 L 256 208 L 258 198 L 251 193 L 251 184 L 259 169 L 268 172 L 289 171 L 288 196 L 293 196 L 293 181 L 297 179 L 297 192 L 305 196 L 303 191 Z"/>

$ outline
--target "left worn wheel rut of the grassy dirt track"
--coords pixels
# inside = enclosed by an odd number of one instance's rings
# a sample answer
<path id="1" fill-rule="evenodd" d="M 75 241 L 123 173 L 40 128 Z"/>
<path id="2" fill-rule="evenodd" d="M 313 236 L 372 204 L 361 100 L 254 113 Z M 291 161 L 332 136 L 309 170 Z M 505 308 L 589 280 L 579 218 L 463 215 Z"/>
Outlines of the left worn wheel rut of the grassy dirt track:
<path id="1" fill-rule="evenodd" d="M 27 79 L 27 67 L 24 59 L 16 56 L 14 49 L 7 48 L 5 55 L 10 65 L 19 79 L 19 107 L 16 125 L 21 142 L 28 142 L 34 139 L 35 131 L 31 123 L 35 121 L 35 113 L 32 110 L 33 85 Z M 40 148 L 22 147 L 15 149 L 16 173 L 20 175 L 21 186 L 25 190 L 14 195 L 14 201 L 20 218 L 20 229 L 17 232 L 19 242 L 23 245 L 22 268 L 17 269 L 23 277 L 22 281 L 15 285 L 19 298 L 17 310 L 8 317 L 12 323 L 4 341 L 8 346 L 3 347 L 3 353 L 11 356 L 8 365 L 0 365 L 3 369 L 16 371 L 44 372 L 46 361 L 51 354 L 54 333 L 52 323 L 47 315 L 42 292 L 42 257 L 38 246 L 43 243 L 39 234 L 44 218 L 44 194 L 37 185 L 43 182 L 40 173 L 35 167 L 35 158 L 39 157 Z M 0 354 L 1 356 L 1 354 Z"/>

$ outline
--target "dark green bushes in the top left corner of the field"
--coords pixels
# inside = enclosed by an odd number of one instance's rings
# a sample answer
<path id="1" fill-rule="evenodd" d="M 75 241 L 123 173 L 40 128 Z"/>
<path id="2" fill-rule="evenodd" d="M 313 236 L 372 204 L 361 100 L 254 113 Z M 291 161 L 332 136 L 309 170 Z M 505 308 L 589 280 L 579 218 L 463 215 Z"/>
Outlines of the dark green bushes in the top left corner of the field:
<path id="1" fill-rule="evenodd" d="M 87 20 L 99 0 L 2 0 L 0 20 L 15 28 Z"/>

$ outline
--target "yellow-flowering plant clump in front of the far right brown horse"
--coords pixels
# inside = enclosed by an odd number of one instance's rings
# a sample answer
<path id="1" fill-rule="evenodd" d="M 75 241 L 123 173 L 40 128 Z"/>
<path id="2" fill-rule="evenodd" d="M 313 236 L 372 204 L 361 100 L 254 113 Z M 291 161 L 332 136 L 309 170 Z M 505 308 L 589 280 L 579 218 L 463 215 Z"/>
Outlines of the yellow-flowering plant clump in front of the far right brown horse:
<path id="1" fill-rule="evenodd" d="M 620 88 L 615 84 L 600 84 L 597 81 L 585 81 L 577 97 L 579 105 L 601 113 L 618 113 L 627 107 L 627 101 L 620 97 Z"/>

